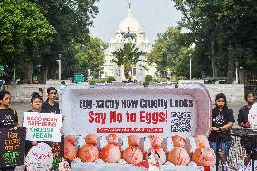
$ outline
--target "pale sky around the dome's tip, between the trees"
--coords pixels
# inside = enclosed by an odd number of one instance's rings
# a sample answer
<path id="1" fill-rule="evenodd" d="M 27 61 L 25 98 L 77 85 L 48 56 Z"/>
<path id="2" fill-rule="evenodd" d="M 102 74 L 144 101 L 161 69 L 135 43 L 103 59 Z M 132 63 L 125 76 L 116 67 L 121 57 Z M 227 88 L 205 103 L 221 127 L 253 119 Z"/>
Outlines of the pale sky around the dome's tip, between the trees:
<path id="1" fill-rule="evenodd" d="M 126 18 L 131 3 L 132 14 L 138 20 L 151 43 L 170 26 L 177 26 L 182 14 L 171 0 L 100 0 L 99 13 L 93 20 L 90 33 L 109 43 L 119 23 Z"/>

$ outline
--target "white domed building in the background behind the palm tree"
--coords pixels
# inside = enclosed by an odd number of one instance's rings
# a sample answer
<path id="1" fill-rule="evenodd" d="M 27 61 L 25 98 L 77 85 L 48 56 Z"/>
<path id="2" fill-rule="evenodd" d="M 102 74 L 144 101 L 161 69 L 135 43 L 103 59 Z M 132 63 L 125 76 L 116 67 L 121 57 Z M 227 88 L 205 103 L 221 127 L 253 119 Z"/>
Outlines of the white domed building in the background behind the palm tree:
<path id="1" fill-rule="evenodd" d="M 124 33 L 130 33 L 134 37 L 125 38 Z M 139 51 L 145 53 L 151 52 L 152 45 L 146 38 L 145 32 L 141 28 L 138 20 L 133 17 L 130 5 L 127 17 L 119 24 L 114 38 L 109 42 L 109 48 L 105 51 L 104 73 L 102 77 L 113 76 L 116 81 L 123 81 L 125 79 L 123 67 L 119 67 L 116 63 L 111 62 L 114 58 L 112 52 L 123 48 L 124 43 L 134 43 L 136 47 L 139 48 Z M 155 76 L 156 71 L 156 65 L 149 65 L 145 56 L 141 56 L 140 61 L 132 67 L 130 75 L 132 76 L 132 80 L 136 79 L 140 82 L 145 80 L 146 75 Z"/>

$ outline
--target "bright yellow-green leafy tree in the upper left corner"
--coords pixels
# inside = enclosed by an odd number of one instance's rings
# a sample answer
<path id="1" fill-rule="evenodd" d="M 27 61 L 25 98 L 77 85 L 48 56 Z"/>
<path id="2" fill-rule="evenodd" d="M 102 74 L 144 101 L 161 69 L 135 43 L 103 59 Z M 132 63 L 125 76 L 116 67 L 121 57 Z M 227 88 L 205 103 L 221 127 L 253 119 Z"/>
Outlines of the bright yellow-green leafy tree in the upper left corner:
<path id="1" fill-rule="evenodd" d="M 26 75 L 25 81 L 31 81 L 39 46 L 52 41 L 54 28 L 35 3 L 25 0 L 1 1 L 0 25 L 2 61 L 10 66 L 15 63 Z"/>

